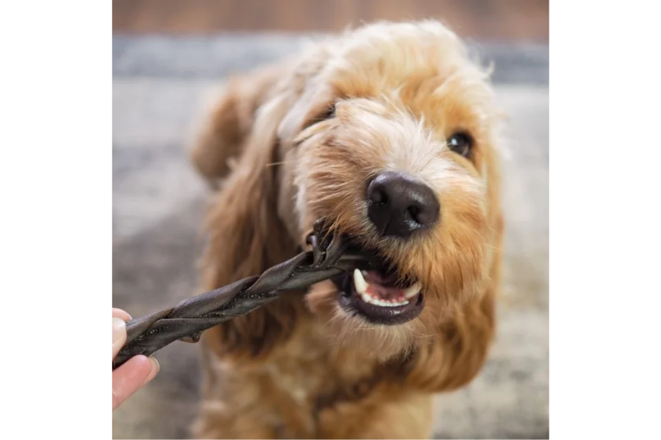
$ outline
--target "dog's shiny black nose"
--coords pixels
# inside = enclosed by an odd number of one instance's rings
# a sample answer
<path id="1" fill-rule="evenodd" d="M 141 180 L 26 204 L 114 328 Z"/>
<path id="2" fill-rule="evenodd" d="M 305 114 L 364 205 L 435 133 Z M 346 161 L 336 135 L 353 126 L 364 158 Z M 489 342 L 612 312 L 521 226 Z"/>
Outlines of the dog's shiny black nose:
<path id="1" fill-rule="evenodd" d="M 439 220 L 441 204 L 431 188 L 400 173 L 381 173 L 367 190 L 368 215 L 381 236 L 408 238 Z"/>

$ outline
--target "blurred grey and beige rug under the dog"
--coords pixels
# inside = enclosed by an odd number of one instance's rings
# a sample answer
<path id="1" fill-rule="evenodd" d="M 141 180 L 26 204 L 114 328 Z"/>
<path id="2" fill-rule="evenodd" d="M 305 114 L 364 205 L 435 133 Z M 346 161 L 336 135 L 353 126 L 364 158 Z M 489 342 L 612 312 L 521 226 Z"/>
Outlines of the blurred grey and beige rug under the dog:
<path id="1" fill-rule="evenodd" d="M 269 61 L 291 36 L 114 37 L 110 73 L 112 307 L 134 316 L 189 296 L 204 188 L 184 141 L 224 74 Z M 549 47 L 486 45 L 510 113 L 505 161 L 505 292 L 496 347 L 468 388 L 439 397 L 443 440 L 550 438 L 551 87 Z M 161 373 L 111 418 L 111 439 L 185 439 L 196 411 L 198 347 L 158 352 Z"/>

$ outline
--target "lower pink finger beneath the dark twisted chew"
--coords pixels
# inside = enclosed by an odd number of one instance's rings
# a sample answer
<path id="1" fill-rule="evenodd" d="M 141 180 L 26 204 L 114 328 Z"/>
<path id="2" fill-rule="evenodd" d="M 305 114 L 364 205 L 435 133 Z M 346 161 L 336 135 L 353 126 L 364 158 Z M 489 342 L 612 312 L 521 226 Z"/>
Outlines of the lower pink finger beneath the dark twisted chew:
<path id="1" fill-rule="evenodd" d="M 158 361 L 137 355 L 110 375 L 110 410 L 114 410 L 136 391 L 151 382 L 159 371 Z"/>

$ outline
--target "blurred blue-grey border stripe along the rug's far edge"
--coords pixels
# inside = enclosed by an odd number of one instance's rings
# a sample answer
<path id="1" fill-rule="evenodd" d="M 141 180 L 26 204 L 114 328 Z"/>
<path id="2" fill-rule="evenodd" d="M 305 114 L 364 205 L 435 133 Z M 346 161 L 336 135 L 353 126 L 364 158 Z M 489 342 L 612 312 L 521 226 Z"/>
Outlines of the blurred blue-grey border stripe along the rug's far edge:
<path id="1" fill-rule="evenodd" d="M 111 36 L 110 75 L 116 77 L 217 79 L 295 52 L 306 36 Z M 551 47 L 536 43 L 471 44 L 495 66 L 496 84 L 551 84 Z"/>

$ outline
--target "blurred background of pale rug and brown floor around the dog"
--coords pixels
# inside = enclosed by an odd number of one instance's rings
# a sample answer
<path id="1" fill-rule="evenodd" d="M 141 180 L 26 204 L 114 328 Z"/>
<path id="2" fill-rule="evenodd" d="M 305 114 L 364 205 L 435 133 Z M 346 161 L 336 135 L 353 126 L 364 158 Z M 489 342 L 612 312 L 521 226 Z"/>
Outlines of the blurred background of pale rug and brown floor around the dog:
<path id="1" fill-rule="evenodd" d="M 190 296 L 207 193 L 187 163 L 200 103 L 228 74 L 311 34 L 436 18 L 494 63 L 509 113 L 507 239 L 496 346 L 481 375 L 439 397 L 435 440 L 550 439 L 549 0 L 111 0 L 111 307 L 142 316 Z M 178 440 L 196 413 L 198 347 L 158 352 L 160 375 L 114 412 L 111 439 Z"/>

